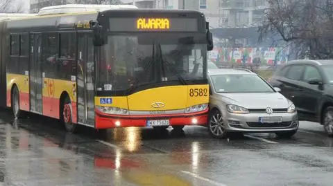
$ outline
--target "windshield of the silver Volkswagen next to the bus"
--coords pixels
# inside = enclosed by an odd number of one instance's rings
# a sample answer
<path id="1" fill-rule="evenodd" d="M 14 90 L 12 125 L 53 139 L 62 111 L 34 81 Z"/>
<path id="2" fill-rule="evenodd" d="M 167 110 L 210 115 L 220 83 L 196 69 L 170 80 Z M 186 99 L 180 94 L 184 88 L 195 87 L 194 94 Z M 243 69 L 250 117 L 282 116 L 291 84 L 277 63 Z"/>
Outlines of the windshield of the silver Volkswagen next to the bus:
<path id="1" fill-rule="evenodd" d="M 273 93 L 275 92 L 257 75 L 212 75 L 217 93 Z"/>

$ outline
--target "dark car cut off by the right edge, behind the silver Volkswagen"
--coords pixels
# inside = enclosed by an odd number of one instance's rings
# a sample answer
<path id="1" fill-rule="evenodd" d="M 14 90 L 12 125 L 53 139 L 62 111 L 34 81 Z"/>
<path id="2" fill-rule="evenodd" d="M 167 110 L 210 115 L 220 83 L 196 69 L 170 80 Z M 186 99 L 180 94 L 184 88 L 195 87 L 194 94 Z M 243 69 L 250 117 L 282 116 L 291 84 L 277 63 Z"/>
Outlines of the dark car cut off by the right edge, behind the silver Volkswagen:
<path id="1" fill-rule="evenodd" d="M 300 120 L 319 122 L 333 136 L 333 59 L 290 61 L 268 82 L 296 105 Z"/>

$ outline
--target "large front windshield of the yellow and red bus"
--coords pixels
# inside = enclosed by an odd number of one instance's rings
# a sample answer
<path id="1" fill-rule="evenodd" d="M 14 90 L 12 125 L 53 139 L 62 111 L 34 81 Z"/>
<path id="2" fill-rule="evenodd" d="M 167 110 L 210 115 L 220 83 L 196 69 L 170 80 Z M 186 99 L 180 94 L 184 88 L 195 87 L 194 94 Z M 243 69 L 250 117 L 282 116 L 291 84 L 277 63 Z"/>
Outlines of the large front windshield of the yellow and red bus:
<path id="1" fill-rule="evenodd" d="M 203 66 L 207 46 L 200 37 L 110 35 L 101 52 L 99 87 L 108 87 L 109 91 L 161 83 L 187 84 L 206 76 Z"/>

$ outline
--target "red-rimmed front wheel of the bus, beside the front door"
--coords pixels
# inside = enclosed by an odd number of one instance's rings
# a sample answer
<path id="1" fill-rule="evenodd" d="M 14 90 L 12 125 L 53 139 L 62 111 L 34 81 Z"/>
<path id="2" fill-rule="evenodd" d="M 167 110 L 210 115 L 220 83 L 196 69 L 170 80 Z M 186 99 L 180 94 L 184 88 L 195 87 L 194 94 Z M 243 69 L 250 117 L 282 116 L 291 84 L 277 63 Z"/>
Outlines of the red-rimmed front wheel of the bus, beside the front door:
<path id="1" fill-rule="evenodd" d="M 70 133 L 75 133 L 77 125 L 72 122 L 72 117 L 73 108 L 71 106 L 71 100 L 69 100 L 69 97 L 66 97 L 62 106 L 62 121 L 64 122 L 67 131 Z"/>

